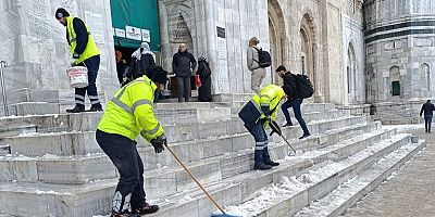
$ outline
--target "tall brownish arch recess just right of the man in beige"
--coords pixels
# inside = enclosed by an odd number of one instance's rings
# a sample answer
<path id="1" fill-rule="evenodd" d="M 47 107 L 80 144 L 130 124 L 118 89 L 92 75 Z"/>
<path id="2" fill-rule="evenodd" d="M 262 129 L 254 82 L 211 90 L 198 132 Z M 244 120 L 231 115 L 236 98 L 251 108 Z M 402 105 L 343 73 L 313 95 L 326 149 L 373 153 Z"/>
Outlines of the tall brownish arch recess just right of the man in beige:
<path id="1" fill-rule="evenodd" d="M 285 41 L 286 28 L 283 10 L 277 0 L 268 1 L 268 15 L 269 15 L 269 38 L 272 54 L 272 69 L 278 65 L 285 65 Z M 282 84 L 282 79 L 275 74 L 271 75 L 272 81 Z"/>

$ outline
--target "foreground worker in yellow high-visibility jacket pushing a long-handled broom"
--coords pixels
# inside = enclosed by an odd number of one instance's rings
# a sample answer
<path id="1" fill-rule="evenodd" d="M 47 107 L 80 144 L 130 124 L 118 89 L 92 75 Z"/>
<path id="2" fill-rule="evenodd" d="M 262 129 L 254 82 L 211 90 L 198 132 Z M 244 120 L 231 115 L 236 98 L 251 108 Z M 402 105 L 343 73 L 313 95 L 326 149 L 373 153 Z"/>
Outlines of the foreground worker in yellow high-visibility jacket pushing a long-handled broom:
<path id="1" fill-rule="evenodd" d="M 154 82 L 159 82 L 154 78 L 158 76 L 148 77 L 142 75 L 121 88 L 108 103 L 97 127 L 97 142 L 121 175 L 113 197 L 112 217 L 159 210 L 159 206 L 146 202 L 144 165 L 135 141 L 137 136 L 142 136 L 154 146 L 156 153 L 161 153 L 167 144 L 163 127 L 156 119 L 152 108 L 157 89 Z"/>

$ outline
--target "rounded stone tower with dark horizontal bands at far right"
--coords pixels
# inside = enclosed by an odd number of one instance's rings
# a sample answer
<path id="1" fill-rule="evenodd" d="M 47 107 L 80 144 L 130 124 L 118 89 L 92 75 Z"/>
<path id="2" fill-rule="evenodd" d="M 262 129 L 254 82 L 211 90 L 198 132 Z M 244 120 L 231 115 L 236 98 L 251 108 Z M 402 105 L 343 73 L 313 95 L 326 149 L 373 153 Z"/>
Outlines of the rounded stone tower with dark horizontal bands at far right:
<path id="1" fill-rule="evenodd" d="M 435 67 L 435 2 L 364 3 L 368 100 L 374 105 L 372 113 L 388 122 L 418 122 L 421 103 L 435 97 L 435 81 L 431 79 Z"/>

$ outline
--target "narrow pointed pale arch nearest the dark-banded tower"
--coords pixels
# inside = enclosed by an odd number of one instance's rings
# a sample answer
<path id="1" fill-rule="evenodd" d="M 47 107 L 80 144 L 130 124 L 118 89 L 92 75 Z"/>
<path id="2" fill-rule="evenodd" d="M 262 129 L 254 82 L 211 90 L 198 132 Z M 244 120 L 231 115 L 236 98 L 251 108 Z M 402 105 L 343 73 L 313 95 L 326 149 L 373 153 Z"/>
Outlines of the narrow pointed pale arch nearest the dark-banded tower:
<path id="1" fill-rule="evenodd" d="M 346 78 L 348 102 L 353 104 L 357 102 L 357 55 L 352 42 L 349 42 L 347 49 Z"/>

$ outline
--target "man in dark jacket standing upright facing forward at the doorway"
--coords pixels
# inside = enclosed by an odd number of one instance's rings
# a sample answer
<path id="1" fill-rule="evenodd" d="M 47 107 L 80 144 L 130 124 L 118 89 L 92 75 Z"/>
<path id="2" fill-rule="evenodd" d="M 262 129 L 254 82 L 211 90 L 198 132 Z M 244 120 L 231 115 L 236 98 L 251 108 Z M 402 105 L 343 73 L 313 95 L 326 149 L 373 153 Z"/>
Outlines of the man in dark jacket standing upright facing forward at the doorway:
<path id="1" fill-rule="evenodd" d="M 194 55 L 187 51 L 185 43 L 181 43 L 178 52 L 172 59 L 172 69 L 177 78 L 178 102 L 183 102 L 183 98 L 186 102 L 189 101 L 190 76 L 196 67 L 197 61 Z"/>

